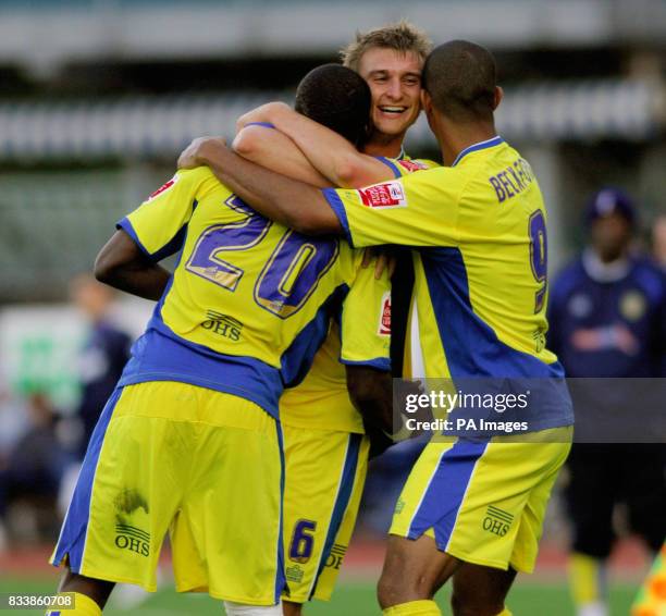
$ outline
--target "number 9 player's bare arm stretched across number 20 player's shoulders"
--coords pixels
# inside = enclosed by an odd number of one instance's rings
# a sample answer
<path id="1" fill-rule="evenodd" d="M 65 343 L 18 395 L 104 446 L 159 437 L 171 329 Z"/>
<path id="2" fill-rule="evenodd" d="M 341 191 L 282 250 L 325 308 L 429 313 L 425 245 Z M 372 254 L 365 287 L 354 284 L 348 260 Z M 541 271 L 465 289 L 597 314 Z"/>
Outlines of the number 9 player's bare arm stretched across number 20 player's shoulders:
<path id="1" fill-rule="evenodd" d="M 188 152 L 196 150 L 196 156 Z M 337 217 L 319 188 L 245 160 L 221 139 L 195 139 L 178 167 L 208 164 L 218 180 L 259 213 L 307 235 L 342 234 Z M 183 160 L 187 163 L 183 164 Z"/>

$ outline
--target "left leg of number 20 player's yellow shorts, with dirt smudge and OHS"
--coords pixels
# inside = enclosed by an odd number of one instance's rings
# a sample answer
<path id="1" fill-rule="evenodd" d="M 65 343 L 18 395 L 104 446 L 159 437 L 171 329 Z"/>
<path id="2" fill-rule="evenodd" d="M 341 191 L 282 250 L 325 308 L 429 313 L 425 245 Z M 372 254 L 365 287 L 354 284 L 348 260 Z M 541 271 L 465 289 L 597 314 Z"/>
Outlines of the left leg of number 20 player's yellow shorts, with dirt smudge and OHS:
<path id="1" fill-rule="evenodd" d="M 160 547 L 192 455 L 192 426 L 172 419 L 196 410 L 175 402 L 189 387 L 150 382 L 114 392 L 91 438 L 53 563 L 66 558 L 86 577 L 156 589 Z"/>

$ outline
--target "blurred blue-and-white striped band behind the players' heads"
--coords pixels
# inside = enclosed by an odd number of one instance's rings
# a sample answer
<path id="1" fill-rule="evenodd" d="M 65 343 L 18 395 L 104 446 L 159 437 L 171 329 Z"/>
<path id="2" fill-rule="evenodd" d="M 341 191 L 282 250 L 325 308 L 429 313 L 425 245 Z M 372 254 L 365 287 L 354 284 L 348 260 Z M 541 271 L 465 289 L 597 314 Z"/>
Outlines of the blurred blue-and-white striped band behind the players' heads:
<path id="1" fill-rule="evenodd" d="M 234 132 L 236 118 L 285 93 L 126 97 L 0 103 L 0 159 L 172 156 L 193 137 Z M 507 88 L 497 128 L 509 139 L 649 139 L 664 125 L 664 91 L 640 81 L 540 83 Z M 409 145 L 434 144 L 423 119 Z"/>

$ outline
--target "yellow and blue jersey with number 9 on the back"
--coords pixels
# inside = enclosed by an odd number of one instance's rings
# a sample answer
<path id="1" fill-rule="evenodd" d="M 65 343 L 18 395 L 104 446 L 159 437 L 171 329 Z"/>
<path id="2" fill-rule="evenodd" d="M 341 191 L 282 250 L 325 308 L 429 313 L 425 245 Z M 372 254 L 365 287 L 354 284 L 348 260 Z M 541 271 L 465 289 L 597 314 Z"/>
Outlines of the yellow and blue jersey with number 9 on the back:
<path id="1" fill-rule="evenodd" d="M 546 212 L 529 163 L 501 137 L 452 167 L 324 189 L 350 245 L 412 246 L 425 374 L 562 378 L 545 347 Z M 571 421 L 555 396 L 534 429 Z"/>

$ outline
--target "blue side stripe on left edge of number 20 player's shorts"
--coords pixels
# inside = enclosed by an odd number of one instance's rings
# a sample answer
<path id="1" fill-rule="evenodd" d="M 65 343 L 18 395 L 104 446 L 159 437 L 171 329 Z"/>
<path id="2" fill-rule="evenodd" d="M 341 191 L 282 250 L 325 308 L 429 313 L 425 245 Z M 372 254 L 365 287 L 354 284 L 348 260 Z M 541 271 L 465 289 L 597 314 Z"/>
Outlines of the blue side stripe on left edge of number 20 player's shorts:
<path id="1" fill-rule="evenodd" d="M 62 523 L 62 530 L 58 539 L 53 565 L 59 566 L 64 556 L 69 554 L 70 568 L 75 574 L 81 570 L 83 552 L 86 543 L 90 500 L 92 497 L 92 483 L 95 481 L 99 454 L 104 441 L 107 428 L 109 427 L 109 421 L 111 421 L 113 410 L 120 399 L 122 391 L 122 387 L 115 389 L 97 421 L 97 426 L 88 443 L 88 449 L 86 451 L 86 457 L 84 458 L 81 473 L 78 475 L 74 494 L 72 495 L 72 502 L 70 503 L 70 508 L 67 509 L 67 515 Z"/>

